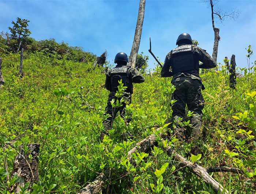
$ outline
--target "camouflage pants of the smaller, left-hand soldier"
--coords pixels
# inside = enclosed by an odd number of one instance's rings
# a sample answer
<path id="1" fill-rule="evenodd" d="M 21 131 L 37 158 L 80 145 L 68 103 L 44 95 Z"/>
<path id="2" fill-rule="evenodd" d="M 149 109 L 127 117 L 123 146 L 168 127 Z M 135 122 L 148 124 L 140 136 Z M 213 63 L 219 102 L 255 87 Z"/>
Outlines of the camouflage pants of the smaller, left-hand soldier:
<path id="1" fill-rule="evenodd" d="M 118 112 L 120 112 L 120 116 L 123 118 L 125 116 L 125 113 L 128 116 L 131 116 L 128 114 L 127 110 L 125 109 L 126 104 L 131 104 L 131 101 L 132 101 L 131 94 L 127 93 L 127 92 L 123 92 L 122 97 L 124 98 L 124 100 L 126 102 L 124 102 L 123 105 L 118 108 L 115 108 L 115 107 L 113 108 L 113 106 L 111 105 L 111 101 L 112 101 L 112 99 L 115 99 L 115 102 L 116 102 L 117 97 L 115 96 L 115 94 L 116 94 L 115 92 L 111 92 L 109 94 L 108 104 L 105 109 L 105 114 L 109 115 L 109 117 L 105 121 L 103 121 L 105 132 L 101 133 L 101 138 L 100 138 L 101 140 L 103 140 L 104 136 L 107 135 L 108 131 L 112 128 L 113 120 L 116 118 L 116 115 Z M 121 98 L 118 98 L 118 100 L 120 101 Z M 125 120 L 126 124 L 128 124 L 130 121 L 131 121 L 131 119 Z"/>

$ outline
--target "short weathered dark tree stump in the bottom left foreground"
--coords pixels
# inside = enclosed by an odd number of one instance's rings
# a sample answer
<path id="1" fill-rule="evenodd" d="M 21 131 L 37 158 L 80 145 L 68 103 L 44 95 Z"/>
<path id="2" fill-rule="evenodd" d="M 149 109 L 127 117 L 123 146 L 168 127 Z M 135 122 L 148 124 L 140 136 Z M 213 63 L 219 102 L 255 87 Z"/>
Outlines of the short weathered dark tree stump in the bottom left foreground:
<path id="1" fill-rule="evenodd" d="M 23 145 L 19 148 L 18 156 L 15 156 L 11 179 L 15 174 L 20 177 L 20 181 L 10 188 L 10 193 L 19 193 L 20 187 L 24 187 L 27 182 L 30 182 L 30 187 L 38 178 L 38 154 L 40 144 L 27 144 L 28 149 L 23 149 Z M 26 151 L 25 151 L 26 150 Z M 32 157 L 30 157 L 30 155 Z"/>

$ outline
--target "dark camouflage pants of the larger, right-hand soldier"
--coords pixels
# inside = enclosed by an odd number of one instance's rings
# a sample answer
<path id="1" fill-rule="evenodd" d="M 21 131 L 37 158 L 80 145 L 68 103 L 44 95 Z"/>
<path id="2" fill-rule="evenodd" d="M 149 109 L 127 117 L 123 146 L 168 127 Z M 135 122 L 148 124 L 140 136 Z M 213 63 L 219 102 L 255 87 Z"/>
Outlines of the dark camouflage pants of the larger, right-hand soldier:
<path id="1" fill-rule="evenodd" d="M 204 99 L 201 93 L 202 83 L 198 79 L 181 76 L 175 78 L 172 84 L 176 87 L 176 90 L 172 94 L 172 100 L 176 100 L 172 105 L 174 134 L 178 139 L 185 139 L 184 128 L 181 126 L 182 120 L 179 121 L 179 119 L 185 117 L 185 106 L 187 104 L 188 110 L 194 112 L 189 118 L 192 124 L 191 134 L 189 135 L 197 140 L 201 133 L 202 109 L 204 107 Z"/>

